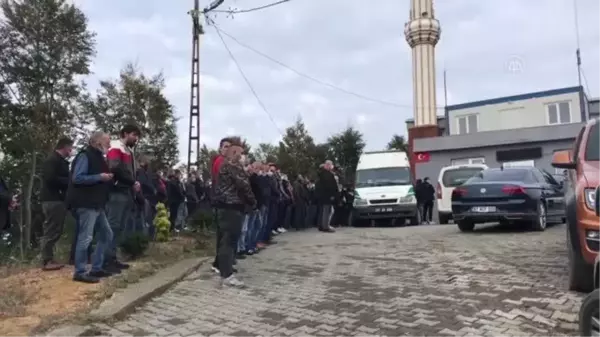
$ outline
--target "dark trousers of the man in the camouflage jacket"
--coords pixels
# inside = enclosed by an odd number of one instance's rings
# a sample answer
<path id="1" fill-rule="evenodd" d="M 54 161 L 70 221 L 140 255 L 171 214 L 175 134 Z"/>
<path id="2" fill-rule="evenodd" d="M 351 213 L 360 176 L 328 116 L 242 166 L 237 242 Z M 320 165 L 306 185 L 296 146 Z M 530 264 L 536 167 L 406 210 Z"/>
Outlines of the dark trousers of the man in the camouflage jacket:
<path id="1" fill-rule="evenodd" d="M 227 278 L 233 274 L 237 242 L 242 233 L 244 217 L 244 213 L 240 211 L 230 209 L 221 211 L 219 221 L 221 240 L 219 240 L 217 251 L 217 264 L 222 278 Z"/>

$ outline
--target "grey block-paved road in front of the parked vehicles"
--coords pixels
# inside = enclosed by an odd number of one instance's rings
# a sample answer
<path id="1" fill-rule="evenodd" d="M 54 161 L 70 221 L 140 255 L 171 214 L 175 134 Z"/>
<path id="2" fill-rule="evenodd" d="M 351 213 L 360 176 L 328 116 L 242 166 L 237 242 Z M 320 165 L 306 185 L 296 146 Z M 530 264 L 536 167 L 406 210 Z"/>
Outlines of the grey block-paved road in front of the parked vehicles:
<path id="1" fill-rule="evenodd" d="M 106 336 L 577 336 L 564 226 L 286 233 L 240 261 L 244 290 L 204 267 Z"/>

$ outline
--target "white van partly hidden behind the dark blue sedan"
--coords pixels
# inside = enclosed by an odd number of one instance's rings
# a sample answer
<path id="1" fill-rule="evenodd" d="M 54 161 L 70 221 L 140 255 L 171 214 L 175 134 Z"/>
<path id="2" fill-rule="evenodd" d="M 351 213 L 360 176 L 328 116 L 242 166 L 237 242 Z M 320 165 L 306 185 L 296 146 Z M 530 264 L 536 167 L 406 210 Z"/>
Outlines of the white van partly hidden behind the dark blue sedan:
<path id="1" fill-rule="evenodd" d="M 485 164 L 464 164 L 446 166 L 440 170 L 436 187 L 440 224 L 447 224 L 452 218 L 452 191 L 454 191 L 454 188 L 487 168 Z"/>

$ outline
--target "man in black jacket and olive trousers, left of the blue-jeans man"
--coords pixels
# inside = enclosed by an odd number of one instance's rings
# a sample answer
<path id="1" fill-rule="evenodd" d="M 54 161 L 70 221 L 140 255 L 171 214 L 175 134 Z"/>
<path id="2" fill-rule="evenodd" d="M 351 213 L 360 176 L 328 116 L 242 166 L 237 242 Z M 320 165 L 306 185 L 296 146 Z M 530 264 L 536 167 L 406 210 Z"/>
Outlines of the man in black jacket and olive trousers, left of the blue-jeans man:
<path id="1" fill-rule="evenodd" d="M 42 269 L 58 270 L 64 265 L 54 261 L 54 246 L 64 230 L 67 207 L 65 197 L 69 187 L 69 162 L 73 141 L 61 138 L 54 151 L 42 165 L 42 190 L 40 200 L 45 221 L 42 236 Z"/>

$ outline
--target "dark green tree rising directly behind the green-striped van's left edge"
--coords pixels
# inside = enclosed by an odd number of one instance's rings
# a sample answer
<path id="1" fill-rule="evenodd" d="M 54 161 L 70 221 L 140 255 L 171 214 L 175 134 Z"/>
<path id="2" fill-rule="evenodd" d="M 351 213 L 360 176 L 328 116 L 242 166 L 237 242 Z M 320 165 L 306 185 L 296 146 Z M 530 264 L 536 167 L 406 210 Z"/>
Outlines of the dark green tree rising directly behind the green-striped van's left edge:
<path id="1" fill-rule="evenodd" d="M 329 137 L 327 140 L 331 159 L 344 173 L 345 181 L 354 180 L 356 165 L 365 148 L 362 134 L 352 127 Z"/>

